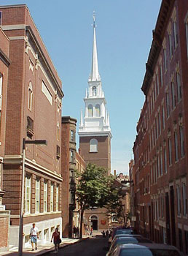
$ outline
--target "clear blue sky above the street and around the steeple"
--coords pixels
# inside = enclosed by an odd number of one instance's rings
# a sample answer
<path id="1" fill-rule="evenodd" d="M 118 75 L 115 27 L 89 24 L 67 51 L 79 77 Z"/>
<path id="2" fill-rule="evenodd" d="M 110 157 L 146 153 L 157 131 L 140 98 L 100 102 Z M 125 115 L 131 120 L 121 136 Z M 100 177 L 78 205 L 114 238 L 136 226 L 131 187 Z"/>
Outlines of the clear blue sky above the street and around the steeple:
<path id="1" fill-rule="evenodd" d="M 128 173 L 161 0 L 1 0 L 0 4 L 27 4 L 63 81 L 63 116 L 77 118 L 78 124 L 91 69 L 95 10 L 98 67 L 113 135 L 111 170 Z"/>

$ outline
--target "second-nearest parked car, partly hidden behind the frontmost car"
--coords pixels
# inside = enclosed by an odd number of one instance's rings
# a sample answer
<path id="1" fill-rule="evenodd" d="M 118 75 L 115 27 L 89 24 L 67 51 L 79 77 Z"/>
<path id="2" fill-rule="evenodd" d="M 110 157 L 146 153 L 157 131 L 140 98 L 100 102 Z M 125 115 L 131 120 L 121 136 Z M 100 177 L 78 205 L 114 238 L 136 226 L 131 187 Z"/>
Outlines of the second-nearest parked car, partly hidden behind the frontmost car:
<path id="1" fill-rule="evenodd" d="M 120 244 L 152 244 L 152 241 L 149 240 L 148 238 L 144 238 L 142 236 L 115 236 L 113 241 L 111 242 L 111 246 L 109 248 L 109 252 L 106 254 L 106 256 L 111 256 L 113 255 L 114 249 L 116 248 L 117 245 Z"/>

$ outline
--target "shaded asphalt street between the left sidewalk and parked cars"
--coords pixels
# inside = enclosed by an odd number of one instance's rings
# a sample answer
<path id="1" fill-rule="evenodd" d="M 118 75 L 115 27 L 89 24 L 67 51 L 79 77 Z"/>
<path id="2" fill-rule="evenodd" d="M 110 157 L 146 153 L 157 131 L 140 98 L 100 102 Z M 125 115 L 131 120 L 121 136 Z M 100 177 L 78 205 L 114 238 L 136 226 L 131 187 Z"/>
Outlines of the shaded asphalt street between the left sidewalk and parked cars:
<path id="1" fill-rule="evenodd" d="M 107 251 L 104 248 L 106 246 L 106 238 L 95 236 L 59 249 L 57 253 L 47 253 L 45 256 L 105 256 Z"/>

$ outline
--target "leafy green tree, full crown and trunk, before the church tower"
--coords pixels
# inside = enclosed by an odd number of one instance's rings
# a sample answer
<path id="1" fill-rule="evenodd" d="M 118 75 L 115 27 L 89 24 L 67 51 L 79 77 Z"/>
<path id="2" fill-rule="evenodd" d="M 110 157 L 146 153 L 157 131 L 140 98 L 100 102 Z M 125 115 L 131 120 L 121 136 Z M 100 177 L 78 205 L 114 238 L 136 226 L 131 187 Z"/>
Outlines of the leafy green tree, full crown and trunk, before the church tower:
<path id="1" fill-rule="evenodd" d="M 77 172 L 78 184 L 76 188 L 77 201 L 80 207 L 79 238 L 82 238 L 82 223 L 86 209 L 105 207 L 107 215 L 119 217 L 122 193 L 122 185 L 116 183 L 114 176 L 108 176 L 103 167 L 88 164 L 85 171 Z M 119 214 L 119 215 L 118 215 Z"/>

